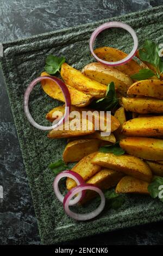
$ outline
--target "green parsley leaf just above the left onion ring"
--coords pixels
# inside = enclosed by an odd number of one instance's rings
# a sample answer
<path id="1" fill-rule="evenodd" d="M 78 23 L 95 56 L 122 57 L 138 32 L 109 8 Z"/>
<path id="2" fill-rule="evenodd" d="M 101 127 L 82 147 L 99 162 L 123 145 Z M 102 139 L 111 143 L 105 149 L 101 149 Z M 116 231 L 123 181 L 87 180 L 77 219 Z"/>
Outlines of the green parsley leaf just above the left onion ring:
<path id="1" fill-rule="evenodd" d="M 61 65 L 66 61 L 64 57 L 56 57 L 52 54 L 49 54 L 46 58 L 45 70 L 49 75 L 54 75 L 57 72 L 60 72 Z"/>

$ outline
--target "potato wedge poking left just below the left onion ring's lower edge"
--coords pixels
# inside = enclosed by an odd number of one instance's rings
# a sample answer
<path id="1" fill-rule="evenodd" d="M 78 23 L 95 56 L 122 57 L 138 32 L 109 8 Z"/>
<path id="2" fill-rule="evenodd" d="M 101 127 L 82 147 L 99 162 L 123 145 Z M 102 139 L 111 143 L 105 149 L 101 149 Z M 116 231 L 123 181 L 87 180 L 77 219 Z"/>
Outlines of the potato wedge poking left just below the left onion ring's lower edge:
<path id="1" fill-rule="evenodd" d="M 59 126 L 60 130 L 58 129 L 58 127 L 51 130 L 48 133 L 47 137 L 51 139 L 79 137 L 79 136 L 84 136 L 84 135 L 88 135 L 95 132 L 95 126 L 89 120 L 86 120 L 85 123 L 86 125 L 84 130 L 82 130 L 82 120 L 80 121 L 80 129 L 73 130 L 71 129 L 71 120 L 70 120 L 70 122 L 66 122 L 64 125 L 60 125 Z"/>

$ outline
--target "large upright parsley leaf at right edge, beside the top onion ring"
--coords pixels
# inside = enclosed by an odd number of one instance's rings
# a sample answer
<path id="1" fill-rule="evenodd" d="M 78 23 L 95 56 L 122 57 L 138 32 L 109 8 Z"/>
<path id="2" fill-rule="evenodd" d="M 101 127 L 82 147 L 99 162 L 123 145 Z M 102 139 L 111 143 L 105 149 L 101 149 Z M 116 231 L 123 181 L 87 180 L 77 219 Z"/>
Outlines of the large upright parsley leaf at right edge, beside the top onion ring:
<path id="1" fill-rule="evenodd" d="M 139 50 L 139 56 L 142 61 L 152 64 L 156 69 L 156 75 L 160 78 L 163 72 L 163 62 L 159 56 L 159 47 L 152 40 L 147 39 L 143 47 Z"/>

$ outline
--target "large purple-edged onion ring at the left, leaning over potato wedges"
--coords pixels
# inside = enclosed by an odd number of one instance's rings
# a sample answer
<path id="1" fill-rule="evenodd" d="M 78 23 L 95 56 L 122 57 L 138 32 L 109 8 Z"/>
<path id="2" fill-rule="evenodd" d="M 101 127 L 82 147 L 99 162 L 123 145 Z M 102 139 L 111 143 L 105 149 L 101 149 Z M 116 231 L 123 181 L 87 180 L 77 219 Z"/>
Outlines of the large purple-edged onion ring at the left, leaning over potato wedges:
<path id="1" fill-rule="evenodd" d="M 28 101 L 29 101 L 29 95 L 32 92 L 34 86 L 42 81 L 42 80 L 51 80 L 55 83 L 58 84 L 58 86 L 60 87 L 62 93 L 64 94 L 65 97 L 65 114 L 63 115 L 63 117 L 58 121 L 57 124 L 54 124 L 52 126 L 42 126 L 39 125 L 35 122 L 35 120 L 33 119 L 32 115 L 29 112 L 29 107 L 28 107 Z M 62 82 L 59 78 L 57 77 L 53 77 L 53 76 L 40 76 L 35 78 L 27 87 L 26 92 L 24 94 L 24 112 L 27 116 L 28 121 L 30 122 L 30 124 L 32 124 L 34 127 L 36 127 L 37 129 L 43 130 L 43 131 L 48 131 L 48 130 L 52 130 L 54 128 L 56 128 L 57 126 L 63 124 L 66 119 L 68 118 L 69 115 L 69 108 L 71 107 L 71 97 L 70 97 L 70 92 L 68 91 L 68 88 L 66 86 L 66 84 L 64 82 Z"/>

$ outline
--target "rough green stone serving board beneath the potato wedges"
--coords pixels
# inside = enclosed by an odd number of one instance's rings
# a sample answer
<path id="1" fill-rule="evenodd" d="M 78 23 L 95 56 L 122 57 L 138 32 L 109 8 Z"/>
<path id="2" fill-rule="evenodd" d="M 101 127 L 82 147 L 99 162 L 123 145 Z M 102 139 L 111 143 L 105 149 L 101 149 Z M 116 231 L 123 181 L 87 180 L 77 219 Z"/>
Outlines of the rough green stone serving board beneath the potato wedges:
<path id="1" fill-rule="evenodd" d="M 62 205 L 55 198 L 52 188 L 54 176 L 47 168 L 51 161 L 60 159 L 66 145 L 65 139 L 50 140 L 47 132 L 30 125 L 23 112 L 23 94 L 30 81 L 40 75 L 47 54 L 65 56 L 67 63 L 77 69 L 94 61 L 89 50 L 93 30 L 107 21 L 122 21 L 133 27 L 139 46 L 145 38 L 163 42 L 163 6 L 121 17 L 98 21 L 78 27 L 3 44 L 1 64 L 7 86 L 12 113 L 20 140 L 24 165 L 28 174 L 33 203 L 44 244 L 60 243 L 79 237 L 103 233 L 124 227 L 163 220 L 163 204 L 149 196 L 126 196 L 126 203 L 119 210 L 105 208 L 92 221 L 77 222 L 65 215 Z M 133 41 L 123 31 L 111 29 L 103 32 L 96 46 L 119 47 L 129 52 Z M 42 125 L 49 125 L 45 114 L 60 103 L 47 96 L 39 84 L 30 95 L 30 112 Z M 64 190 L 64 182 L 62 190 Z M 96 203 L 96 202 L 95 202 Z M 83 208 L 91 210 L 95 205 Z M 77 209 L 78 210 L 78 209 Z"/>

